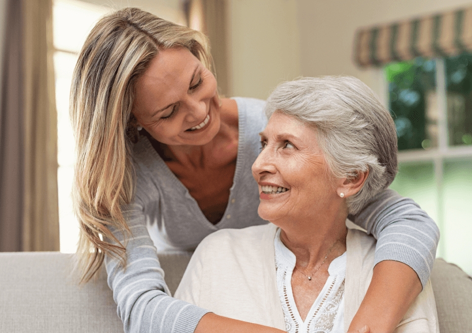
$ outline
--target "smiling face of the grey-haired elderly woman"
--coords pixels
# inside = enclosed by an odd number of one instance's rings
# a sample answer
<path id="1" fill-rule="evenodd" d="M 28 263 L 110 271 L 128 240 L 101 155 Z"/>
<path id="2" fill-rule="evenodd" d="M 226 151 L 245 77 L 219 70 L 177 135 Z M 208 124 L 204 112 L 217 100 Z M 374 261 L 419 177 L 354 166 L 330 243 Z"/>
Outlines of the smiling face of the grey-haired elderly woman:
<path id="1" fill-rule="evenodd" d="M 253 164 L 260 217 L 304 218 L 325 212 L 337 197 L 335 180 L 318 147 L 315 130 L 275 112 L 260 133 L 262 151 Z"/>

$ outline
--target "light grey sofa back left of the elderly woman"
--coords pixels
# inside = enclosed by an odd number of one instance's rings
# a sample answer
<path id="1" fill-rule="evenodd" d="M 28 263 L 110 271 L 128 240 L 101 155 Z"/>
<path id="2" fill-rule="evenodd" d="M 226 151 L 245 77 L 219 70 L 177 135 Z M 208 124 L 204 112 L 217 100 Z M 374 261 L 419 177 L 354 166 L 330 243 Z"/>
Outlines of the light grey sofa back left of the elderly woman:
<path id="1" fill-rule="evenodd" d="M 159 255 L 175 292 L 190 254 Z M 0 332 L 119 333 L 123 324 L 107 284 L 78 285 L 73 255 L 58 252 L 0 253 Z"/>

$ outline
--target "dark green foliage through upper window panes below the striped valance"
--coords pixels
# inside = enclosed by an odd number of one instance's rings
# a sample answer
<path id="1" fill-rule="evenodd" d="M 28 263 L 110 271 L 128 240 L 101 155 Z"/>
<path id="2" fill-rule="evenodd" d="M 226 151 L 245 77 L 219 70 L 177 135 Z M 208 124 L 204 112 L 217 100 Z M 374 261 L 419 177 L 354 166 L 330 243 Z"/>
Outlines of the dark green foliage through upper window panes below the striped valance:
<path id="1" fill-rule="evenodd" d="M 444 58 L 449 146 L 472 145 L 472 54 Z M 416 58 L 385 67 L 399 150 L 437 147 L 436 61 Z"/>

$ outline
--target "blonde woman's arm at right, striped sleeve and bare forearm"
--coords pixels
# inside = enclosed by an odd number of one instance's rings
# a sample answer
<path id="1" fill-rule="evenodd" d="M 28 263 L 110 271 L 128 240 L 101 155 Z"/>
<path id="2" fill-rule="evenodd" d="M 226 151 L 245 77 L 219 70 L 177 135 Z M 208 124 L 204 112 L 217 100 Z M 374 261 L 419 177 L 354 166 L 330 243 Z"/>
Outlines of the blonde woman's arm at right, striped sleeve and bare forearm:
<path id="1" fill-rule="evenodd" d="M 439 230 L 413 200 L 390 189 L 349 217 L 377 239 L 372 281 L 350 330 L 393 332 L 429 279 Z"/>

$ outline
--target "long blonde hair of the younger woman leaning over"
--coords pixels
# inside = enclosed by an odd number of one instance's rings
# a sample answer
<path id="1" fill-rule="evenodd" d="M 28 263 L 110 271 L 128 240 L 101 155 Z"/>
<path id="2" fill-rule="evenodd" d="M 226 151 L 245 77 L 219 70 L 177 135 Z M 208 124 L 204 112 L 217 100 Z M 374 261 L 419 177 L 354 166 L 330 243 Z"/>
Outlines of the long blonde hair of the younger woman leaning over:
<path id="1" fill-rule="evenodd" d="M 100 269 L 105 254 L 126 267 L 130 229 L 122 212 L 133 200 L 131 114 L 136 80 L 159 51 L 184 47 L 212 69 L 205 35 L 138 8 L 102 18 L 92 29 L 73 73 L 70 115 L 75 136 L 74 212 L 80 226 L 81 282 Z M 124 242 L 110 232 L 121 232 Z"/>

